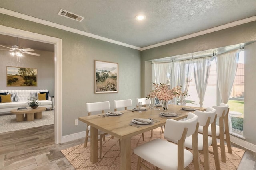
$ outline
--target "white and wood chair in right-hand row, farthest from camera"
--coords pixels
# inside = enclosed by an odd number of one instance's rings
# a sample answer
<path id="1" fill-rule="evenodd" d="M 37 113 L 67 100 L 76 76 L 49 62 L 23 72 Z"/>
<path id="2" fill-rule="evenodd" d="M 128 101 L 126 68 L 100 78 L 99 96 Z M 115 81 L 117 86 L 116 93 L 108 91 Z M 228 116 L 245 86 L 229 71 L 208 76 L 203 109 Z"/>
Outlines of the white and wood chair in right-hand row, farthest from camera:
<path id="1" fill-rule="evenodd" d="M 228 147 L 228 153 L 232 153 L 230 135 L 229 135 L 229 126 L 228 126 L 228 112 L 229 108 L 227 104 L 220 103 L 220 106 L 212 106 L 216 109 L 217 117 L 219 118 L 219 125 L 216 125 L 216 136 L 220 139 L 220 152 L 221 152 L 221 161 L 226 162 L 225 154 L 225 141 Z M 203 133 L 202 127 L 199 126 L 198 132 Z M 211 127 L 208 129 L 208 134 L 212 135 Z M 224 134 L 226 139 L 224 138 Z"/>

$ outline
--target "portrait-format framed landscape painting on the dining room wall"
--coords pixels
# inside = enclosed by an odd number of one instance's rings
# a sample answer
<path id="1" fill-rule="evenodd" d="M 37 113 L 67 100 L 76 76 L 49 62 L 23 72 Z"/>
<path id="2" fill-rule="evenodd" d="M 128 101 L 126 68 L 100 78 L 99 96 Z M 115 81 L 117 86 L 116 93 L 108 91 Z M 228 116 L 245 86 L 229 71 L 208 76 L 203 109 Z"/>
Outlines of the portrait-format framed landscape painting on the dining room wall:
<path id="1" fill-rule="evenodd" d="M 118 92 L 118 63 L 95 60 L 95 93 Z"/>

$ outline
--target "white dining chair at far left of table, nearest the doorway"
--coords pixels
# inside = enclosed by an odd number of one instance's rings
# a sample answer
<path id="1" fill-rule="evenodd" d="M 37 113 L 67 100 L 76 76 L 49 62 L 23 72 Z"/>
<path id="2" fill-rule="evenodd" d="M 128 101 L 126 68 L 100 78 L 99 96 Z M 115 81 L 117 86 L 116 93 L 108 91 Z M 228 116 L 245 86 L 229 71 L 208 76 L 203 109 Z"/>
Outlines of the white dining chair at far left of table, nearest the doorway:
<path id="1" fill-rule="evenodd" d="M 109 101 L 86 103 L 86 106 L 87 106 L 88 116 L 92 115 L 93 113 L 97 114 L 97 112 L 99 111 L 101 111 L 101 113 L 103 114 L 105 112 L 104 110 L 110 109 Z M 90 137 L 90 131 L 91 131 L 91 126 L 87 125 L 84 147 L 87 147 L 88 138 Z M 101 159 L 101 151 L 102 151 L 102 141 L 105 141 L 106 135 L 108 135 L 106 132 L 98 129 L 98 136 L 100 137 L 100 139 L 98 138 L 98 141 L 100 141 L 100 159 Z"/>

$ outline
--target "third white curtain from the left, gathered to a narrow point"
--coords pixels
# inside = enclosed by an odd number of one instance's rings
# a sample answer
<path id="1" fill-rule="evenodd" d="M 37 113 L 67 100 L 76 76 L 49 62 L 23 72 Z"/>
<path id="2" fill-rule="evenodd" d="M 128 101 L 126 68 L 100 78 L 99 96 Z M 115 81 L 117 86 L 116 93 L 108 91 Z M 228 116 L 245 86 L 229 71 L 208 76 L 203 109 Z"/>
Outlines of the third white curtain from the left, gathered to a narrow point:
<path id="1" fill-rule="evenodd" d="M 194 78 L 196 84 L 196 91 L 199 98 L 200 107 L 203 107 L 204 95 L 206 86 L 208 83 L 208 77 L 211 67 L 212 57 L 203 57 L 200 59 L 194 59 Z"/>

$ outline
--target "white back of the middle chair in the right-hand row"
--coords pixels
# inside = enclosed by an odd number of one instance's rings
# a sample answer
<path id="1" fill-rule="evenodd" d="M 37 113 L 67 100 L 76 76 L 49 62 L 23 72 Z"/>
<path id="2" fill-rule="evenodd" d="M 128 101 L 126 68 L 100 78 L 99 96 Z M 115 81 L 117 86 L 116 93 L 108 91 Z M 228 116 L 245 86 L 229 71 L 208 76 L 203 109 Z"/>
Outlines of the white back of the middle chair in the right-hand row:
<path id="1" fill-rule="evenodd" d="M 205 126 L 208 120 L 208 117 L 210 117 L 209 124 L 212 124 L 215 119 L 216 110 L 212 107 L 208 107 L 206 111 L 198 111 L 196 110 L 194 112 L 195 115 L 198 116 L 198 122 L 200 126 Z M 207 127 L 208 128 L 208 127 Z"/>

